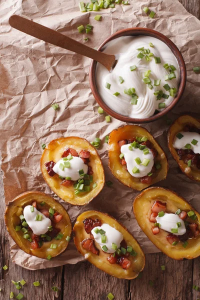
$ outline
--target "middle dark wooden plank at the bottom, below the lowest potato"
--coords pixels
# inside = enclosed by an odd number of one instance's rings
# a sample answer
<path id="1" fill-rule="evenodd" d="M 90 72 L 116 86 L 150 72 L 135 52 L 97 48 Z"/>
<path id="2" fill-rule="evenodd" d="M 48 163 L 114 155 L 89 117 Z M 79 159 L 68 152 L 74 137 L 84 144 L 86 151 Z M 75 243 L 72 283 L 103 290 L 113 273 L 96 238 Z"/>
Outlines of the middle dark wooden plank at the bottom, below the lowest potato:
<path id="1" fill-rule="evenodd" d="M 63 299 L 105 300 L 109 292 L 126 300 L 128 280 L 112 277 L 88 261 L 64 266 Z"/>

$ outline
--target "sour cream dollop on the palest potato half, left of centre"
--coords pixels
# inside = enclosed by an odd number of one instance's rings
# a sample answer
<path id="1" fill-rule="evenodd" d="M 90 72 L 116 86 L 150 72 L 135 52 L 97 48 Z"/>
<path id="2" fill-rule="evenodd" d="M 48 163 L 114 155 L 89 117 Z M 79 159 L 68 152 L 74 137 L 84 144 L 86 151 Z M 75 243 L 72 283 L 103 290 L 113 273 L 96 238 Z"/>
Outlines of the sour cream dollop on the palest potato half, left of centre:
<path id="1" fill-rule="evenodd" d="M 62 177 L 70 177 L 71 180 L 78 180 L 82 178 L 82 176 L 79 175 L 79 170 L 83 170 L 84 174 L 87 173 L 88 166 L 84 164 L 82 159 L 80 157 L 72 156 L 73 158 L 70 160 L 63 160 L 61 158 L 55 165 L 53 166 L 53 171 L 62 176 Z M 60 164 L 64 165 L 64 163 L 68 161 L 69 162 L 69 167 L 64 167 L 63 170 L 60 168 Z"/>

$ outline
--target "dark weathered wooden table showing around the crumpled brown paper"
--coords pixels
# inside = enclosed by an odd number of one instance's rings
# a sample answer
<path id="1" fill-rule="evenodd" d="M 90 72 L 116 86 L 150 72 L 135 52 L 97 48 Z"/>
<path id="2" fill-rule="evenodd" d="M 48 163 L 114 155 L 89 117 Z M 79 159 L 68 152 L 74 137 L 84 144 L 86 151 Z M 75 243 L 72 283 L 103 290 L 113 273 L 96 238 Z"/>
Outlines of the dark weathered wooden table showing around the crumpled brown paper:
<path id="1" fill-rule="evenodd" d="M 179 0 L 196 17 L 200 17 L 199 0 Z M 200 34 L 200 33 L 199 33 Z M 1 176 L 2 177 L 2 176 Z M 146 254 L 146 264 L 141 278 L 134 280 L 116 279 L 100 271 L 89 262 L 63 265 L 37 271 L 21 268 L 9 257 L 8 234 L 5 229 L 4 199 L 2 180 L 0 184 L 0 299 L 9 299 L 10 291 L 18 294 L 11 280 L 22 278 L 27 282 L 21 288 L 24 300 L 106 300 L 112 292 L 116 300 L 197 300 L 200 290 L 200 258 L 176 261 L 162 253 Z M 2 269 L 8 265 L 8 270 Z M 165 265 L 162 271 L 160 265 Z M 34 287 L 32 282 L 39 280 L 41 285 Z M 149 280 L 154 282 L 149 285 Z M 57 292 L 51 291 L 57 286 Z"/>

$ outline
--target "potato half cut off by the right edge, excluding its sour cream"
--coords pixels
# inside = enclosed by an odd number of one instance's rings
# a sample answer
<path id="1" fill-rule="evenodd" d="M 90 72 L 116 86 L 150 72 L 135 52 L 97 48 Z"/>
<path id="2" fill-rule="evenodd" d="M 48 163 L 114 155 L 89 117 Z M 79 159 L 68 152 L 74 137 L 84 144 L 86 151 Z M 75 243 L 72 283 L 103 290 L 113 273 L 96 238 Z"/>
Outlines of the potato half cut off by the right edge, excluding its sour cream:
<path id="1" fill-rule="evenodd" d="M 193 154 L 195 153 L 192 153 L 190 149 L 188 150 L 185 148 L 185 150 L 180 152 L 173 147 L 174 138 L 180 131 L 200 133 L 200 122 L 190 115 L 181 115 L 171 124 L 167 135 L 169 151 L 171 152 L 171 155 L 177 162 L 181 171 L 188 178 L 195 181 L 200 181 L 200 156 L 196 154 L 194 157 Z M 190 159 L 192 160 L 192 164 L 188 166 L 187 161 Z M 195 162 L 194 159 L 196 160 Z"/>

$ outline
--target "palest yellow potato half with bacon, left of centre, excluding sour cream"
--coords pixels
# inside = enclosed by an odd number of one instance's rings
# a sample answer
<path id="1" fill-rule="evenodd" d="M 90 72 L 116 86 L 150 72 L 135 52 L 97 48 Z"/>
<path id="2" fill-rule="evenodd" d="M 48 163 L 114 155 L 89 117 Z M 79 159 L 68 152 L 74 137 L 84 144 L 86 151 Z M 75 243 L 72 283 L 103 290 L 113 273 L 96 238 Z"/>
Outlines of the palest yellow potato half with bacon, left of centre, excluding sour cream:
<path id="1" fill-rule="evenodd" d="M 83 155 L 80 154 L 80 152 L 82 152 Z M 89 181 L 90 177 L 87 191 L 84 190 L 84 188 L 78 190 L 74 187 L 77 186 L 77 181 L 64 180 L 64 178 L 60 178 L 60 176 L 55 173 L 49 173 L 51 172 L 50 168 L 47 171 L 47 166 L 45 164 L 48 162 L 56 163 L 62 157 L 67 158 L 68 154 L 71 154 L 73 157 L 83 156 L 81 158 L 84 161 L 84 165 L 87 164 L 88 166 L 88 172 L 85 174 L 88 178 L 85 178 L 84 176 L 84 183 L 85 180 Z M 64 201 L 73 205 L 87 204 L 97 196 L 104 185 L 104 170 L 101 159 L 90 142 L 81 137 L 68 136 L 51 140 L 41 155 L 40 168 L 44 180 L 54 193 Z M 86 185 L 84 185 L 84 187 L 85 186 Z"/>

